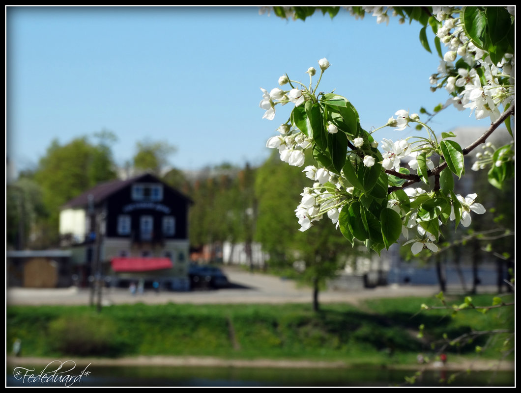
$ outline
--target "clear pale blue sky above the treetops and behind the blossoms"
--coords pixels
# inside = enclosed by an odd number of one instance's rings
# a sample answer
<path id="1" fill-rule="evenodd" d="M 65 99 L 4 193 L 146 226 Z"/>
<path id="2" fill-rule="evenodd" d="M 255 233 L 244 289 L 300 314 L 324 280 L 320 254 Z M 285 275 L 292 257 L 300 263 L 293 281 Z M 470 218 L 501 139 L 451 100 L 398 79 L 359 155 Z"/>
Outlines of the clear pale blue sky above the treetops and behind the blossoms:
<path id="1" fill-rule="evenodd" d="M 143 140 L 175 145 L 170 163 L 180 169 L 262 164 L 291 104 L 262 119 L 259 88 L 279 87 L 284 73 L 308 84 L 306 70 L 324 57 L 331 67 L 320 90 L 348 98 L 365 129 L 448 98 L 429 90 L 439 58 L 420 45 L 419 25 L 392 17 L 386 26 L 345 11 L 286 21 L 258 7 L 6 7 L 6 21 L 6 146 L 18 170 L 55 138 L 102 129 L 118 137 L 119 165 Z M 487 127 L 469 114 L 449 108 L 431 126 Z M 413 134 L 386 128 L 375 137 Z"/>

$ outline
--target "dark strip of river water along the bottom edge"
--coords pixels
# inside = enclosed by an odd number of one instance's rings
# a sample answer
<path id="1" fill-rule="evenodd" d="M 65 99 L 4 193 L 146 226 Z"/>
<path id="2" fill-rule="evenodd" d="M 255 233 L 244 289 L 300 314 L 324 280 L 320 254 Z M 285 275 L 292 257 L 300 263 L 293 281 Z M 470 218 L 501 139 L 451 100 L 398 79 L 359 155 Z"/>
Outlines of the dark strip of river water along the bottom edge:
<path id="1" fill-rule="evenodd" d="M 85 366 L 59 375 L 42 374 L 45 366 L 7 369 L 6 386 L 13 387 L 369 387 L 399 386 L 414 371 L 381 368 L 291 369 L 192 366 Z M 26 371 L 29 370 L 29 371 Z M 48 372 L 48 369 L 46 372 Z M 15 373 L 18 373 L 15 376 Z M 88 374 L 82 374 L 88 372 Z M 426 371 L 413 386 L 506 387 L 514 385 L 513 371 L 460 373 L 448 384 L 453 371 Z M 33 377 L 30 377 L 30 375 Z M 42 374 L 42 375 L 41 375 Z M 71 377 L 66 378 L 66 375 Z M 23 377 L 25 375 L 25 377 Z M 38 377 L 38 375 L 41 375 Z M 46 375 L 44 377 L 43 375 Z M 444 378 L 445 382 L 440 379 Z M 410 385 L 405 385 L 410 386 Z"/>

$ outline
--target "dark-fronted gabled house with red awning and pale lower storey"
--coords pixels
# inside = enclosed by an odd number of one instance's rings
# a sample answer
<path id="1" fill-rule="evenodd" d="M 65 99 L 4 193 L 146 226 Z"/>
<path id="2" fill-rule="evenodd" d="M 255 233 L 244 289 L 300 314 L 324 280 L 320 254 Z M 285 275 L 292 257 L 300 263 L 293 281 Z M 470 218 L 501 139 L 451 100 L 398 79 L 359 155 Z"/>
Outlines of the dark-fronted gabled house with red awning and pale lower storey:
<path id="1" fill-rule="evenodd" d="M 188 290 L 190 204 L 152 174 L 103 182 L 66 203 L 61 247 L 80 285 L 102 274 L 111 285 L 141 280 Z"/>

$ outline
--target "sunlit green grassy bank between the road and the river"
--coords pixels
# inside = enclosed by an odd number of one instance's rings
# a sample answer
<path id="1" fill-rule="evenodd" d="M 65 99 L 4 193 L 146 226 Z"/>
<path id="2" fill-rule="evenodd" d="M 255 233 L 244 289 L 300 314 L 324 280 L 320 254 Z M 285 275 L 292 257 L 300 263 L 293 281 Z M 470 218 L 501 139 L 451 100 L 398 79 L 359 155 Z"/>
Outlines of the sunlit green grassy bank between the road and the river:
<path id="1" fill-rule="evenodd" d="M 503 298 L 505 301 L 507 297 Z M 463 298 L 448 298 L 461 304 Z M 419 352 L 433 355 L 445 334 L 454 339 L 476 330 L 513 330 L 513 307 L 485 315 L 468 310 L 421 310 L 435 298 L 371 299 L 355 307 L 311 305 L 118 305 L 101 313 L 86 306 L 8 306 L 7 348 L 16 338 L 22 356 L 212 356 L 226 359 L 341 360 L 352 364 L 406 364 Z M 491 305 L 492 297 L 473 297 Z M 424 325 L 423 337 L 418 337 Z M 477 337 L 446 352 L 499 357 L 506 335 L 487 343 Z"/>

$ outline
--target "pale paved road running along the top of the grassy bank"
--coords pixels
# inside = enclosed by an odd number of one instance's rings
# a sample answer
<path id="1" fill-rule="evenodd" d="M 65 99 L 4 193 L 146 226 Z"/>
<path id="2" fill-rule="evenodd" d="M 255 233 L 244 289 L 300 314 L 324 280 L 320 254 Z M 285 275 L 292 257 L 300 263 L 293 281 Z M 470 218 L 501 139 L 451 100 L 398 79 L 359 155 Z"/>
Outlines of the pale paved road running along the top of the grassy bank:
<path id="1" fill-rule="evenodd" d="M 309 287 L 299 287 L 293 280 L 284 280 L 258 272 L 247 272 L 235 267 L 223 268 L 231 287 L 219 290 L 190 292 L 145 291 L 142 295 L 130 295 L 127 289 L 105 289 L 102 299 L 109 304 L 246 304 L 246 303 L 308 303 L 312 300 Z M 480 287 L 482 292 L 493 292 L 493 287 Z M 321 291 L 320 303 L 353 303 L 372 297 L 433 296 L 438 286 L 388 285 L 374 289 L 354 288 L 348 291 Z M 88 305 L 88 289 L 11 288 L 6 291 L 8 305 Z"/>

